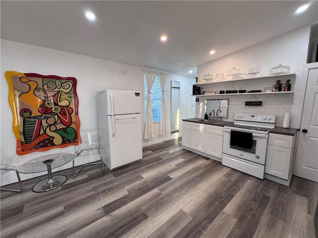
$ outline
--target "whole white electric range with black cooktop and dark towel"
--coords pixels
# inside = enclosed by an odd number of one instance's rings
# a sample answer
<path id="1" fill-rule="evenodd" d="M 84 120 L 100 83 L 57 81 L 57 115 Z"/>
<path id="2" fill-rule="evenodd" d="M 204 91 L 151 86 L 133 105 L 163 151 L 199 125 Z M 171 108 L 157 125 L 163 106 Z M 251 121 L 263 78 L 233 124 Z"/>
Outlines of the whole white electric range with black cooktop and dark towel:
<path id="1" fill-rule="evenodd" d="M 235 114 L 234 124 L 224 126 L 222 164 L 264 179 L 269 130 L 275 115 Z"/>

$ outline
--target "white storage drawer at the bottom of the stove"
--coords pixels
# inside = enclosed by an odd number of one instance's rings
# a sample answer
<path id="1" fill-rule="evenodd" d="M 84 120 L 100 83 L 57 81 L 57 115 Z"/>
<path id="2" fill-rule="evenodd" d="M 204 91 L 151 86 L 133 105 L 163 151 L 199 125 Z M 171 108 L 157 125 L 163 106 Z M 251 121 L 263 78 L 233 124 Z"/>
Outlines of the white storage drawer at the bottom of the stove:
<path id="1" fill-rule="evenodd" d="M 247 160 L 242 160 L 227 154 L 223 154 L 222 165 L 244 172 L 256 178 L 264 179 L 265 166 L 263 165 L 259 165 Z"/>

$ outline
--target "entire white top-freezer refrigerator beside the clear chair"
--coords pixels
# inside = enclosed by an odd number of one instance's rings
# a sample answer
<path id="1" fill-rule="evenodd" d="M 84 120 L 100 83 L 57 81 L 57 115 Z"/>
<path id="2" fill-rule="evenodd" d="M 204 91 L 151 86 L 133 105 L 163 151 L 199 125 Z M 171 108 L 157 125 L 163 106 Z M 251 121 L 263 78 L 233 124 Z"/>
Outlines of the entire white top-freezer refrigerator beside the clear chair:
<path id="1" fill-rule="evenodd" d="M 97 92 L 98 126 L 103 140 L 101 154 L 110 170 L 143 158 L 141 97 L 139 91 Z"/>

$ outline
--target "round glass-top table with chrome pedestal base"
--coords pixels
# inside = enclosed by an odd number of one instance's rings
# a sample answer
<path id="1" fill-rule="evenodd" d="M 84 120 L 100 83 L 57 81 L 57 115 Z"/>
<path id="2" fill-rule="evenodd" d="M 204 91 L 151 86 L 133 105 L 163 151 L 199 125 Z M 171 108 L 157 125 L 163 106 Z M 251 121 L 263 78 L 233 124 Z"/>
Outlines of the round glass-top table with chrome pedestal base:
<path id="1" fill-rule="evenodd" d="M 30 161 L 27 161 L 17 168 L 21 174 L 31 174 L 43 171 L 48 171 L 48 178 L 43 179 L 33 185 L 33 192 L 50 191 L 64 184 L 68 177 L 64 175 L 52 176 L 52 169 L 58 168 L 69 163 L 73 159 L 71 153 L 58 153 L 52 155 L 45 155 Z"/>

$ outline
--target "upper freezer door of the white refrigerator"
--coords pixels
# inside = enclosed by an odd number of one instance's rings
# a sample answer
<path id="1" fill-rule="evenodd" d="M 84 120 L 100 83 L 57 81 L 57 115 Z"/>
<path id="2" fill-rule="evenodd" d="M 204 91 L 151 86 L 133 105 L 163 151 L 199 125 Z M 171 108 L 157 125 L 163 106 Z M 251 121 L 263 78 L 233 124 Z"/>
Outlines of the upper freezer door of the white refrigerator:
<path id="1" fill-rule="evenodd" d="M 107 89 L 108 115 L 141 113 L 141 92 Z"/>

